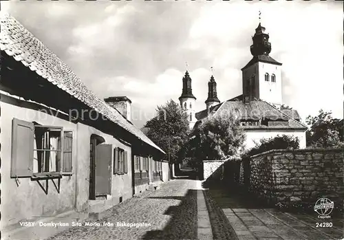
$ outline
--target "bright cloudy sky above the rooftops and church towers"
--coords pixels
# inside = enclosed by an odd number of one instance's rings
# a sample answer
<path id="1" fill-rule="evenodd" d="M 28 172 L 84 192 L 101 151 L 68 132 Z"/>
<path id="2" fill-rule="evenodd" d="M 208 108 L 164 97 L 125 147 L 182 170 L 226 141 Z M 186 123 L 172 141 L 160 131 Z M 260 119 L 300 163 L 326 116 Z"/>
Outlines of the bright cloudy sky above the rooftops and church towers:
<path id="1" fill-rule="evenodd" d="M 137 127 L 179 102 L 186 68 L 196 111 L 211 74 L 219 100 L 242 94 L 259 10 L 270 56 L 283 63 L 283 103 L 303 120 L 320 109 L 343 118 L 341 1 L 1 1 L 97 96 L 131 99 Z"/>

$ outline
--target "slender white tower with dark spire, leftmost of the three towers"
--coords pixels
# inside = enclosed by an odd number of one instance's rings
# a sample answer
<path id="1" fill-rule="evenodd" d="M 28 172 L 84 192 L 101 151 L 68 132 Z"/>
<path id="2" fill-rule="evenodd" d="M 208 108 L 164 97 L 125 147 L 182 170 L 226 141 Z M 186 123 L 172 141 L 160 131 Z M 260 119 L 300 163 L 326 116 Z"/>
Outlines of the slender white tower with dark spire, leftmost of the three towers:
<path id="1" fill-rule="evenodd" d="M 180 107 L 188 113 L 189 116 L 189 127 L 190 129 L 193 128 L 197 119 L 195 117 L 195 102 L 196 98 L 193 96 L 192 88 L 191 88 L 191 78 L 189 76 L 189 72 L 185 72 L 185 76 L 183 77 L 183 90 L 182 96 L 179 97 L 180 100 Z"/>

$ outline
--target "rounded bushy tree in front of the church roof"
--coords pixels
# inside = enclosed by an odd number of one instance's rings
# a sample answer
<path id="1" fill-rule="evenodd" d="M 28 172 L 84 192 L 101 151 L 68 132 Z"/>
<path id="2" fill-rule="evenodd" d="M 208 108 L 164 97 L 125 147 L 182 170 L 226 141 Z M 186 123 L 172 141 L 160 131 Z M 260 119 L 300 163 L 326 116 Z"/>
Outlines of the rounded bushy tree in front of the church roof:
<path id="1" fill-rule="evenodd" d="M 226 160 L 241 151 L 246 135 L 234 116 L 210 116 L 197 129 L 191 149 L 198 160 Z"/>

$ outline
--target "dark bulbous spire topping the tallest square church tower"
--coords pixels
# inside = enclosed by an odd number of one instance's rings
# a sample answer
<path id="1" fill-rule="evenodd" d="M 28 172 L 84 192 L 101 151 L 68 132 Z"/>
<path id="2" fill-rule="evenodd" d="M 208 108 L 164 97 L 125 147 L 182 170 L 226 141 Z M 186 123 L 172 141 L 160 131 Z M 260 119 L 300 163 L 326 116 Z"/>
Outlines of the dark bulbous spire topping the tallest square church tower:
<path id="1" fill-rule="evenodd" d="M 259 11 L 259 25 L 255 30 L 255 36 L 252 36 L 253 44 L 250 47 L 253 56 L 269 55 L 271 52 L 271 43 L 269 43 L 269 34 L 261 25 L 261 11 Z"/>

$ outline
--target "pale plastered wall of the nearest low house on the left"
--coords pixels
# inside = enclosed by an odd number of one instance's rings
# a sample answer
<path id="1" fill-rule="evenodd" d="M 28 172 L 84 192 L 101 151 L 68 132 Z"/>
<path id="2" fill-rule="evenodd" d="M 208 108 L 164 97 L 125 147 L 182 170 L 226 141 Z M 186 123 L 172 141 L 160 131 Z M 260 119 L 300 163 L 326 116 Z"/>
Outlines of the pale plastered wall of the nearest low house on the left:
<path id="1" fill-rule="evenodd" d="M 3 98 L 3 96 L 1 96 Z M 9 97 L 6 97 L 9 98 Z M 119 142 L 112 135 L 103 133 L 85 124 L 74 124 L 68 120 L 56 118 L 43 111 L 19 107 L 17 100 L 9 98 L 11 103 L 1 102 L 1 221 L 2 227 L 17 223 L 22 219 L 32 219 L 32 216 L 56 215 L 68 210 L 87 210 L 89 201 L 89 146 L 92 133 L 105 139 L 105 144 L 120 147 L 128 151 L 128 173 L 111 175 L 111 196 L 123 201 L 132 195 L 131 188 L 131 148 Z M 1 99 L 2 100 L 2 99 Z M 12 149 L 12 119 L 18 118 L 27 122 L 63 127 L 72 131 L 72 168 L 71 176 L 63 175 L 59 192 L 58 179 L 33 181 L 30 177 L 20 178 L 19 186 L 10 177 Z M 32 142 L 32 147 L 34 143 Z M 112 163 L 113 164 L 113 161 Z M 113 169 L 113 166 L 110 166 Z M 40 186 L 40 184 L 42 186 Z M 56 186 L 54 186 L 56 184 Z M 47 193 L 42 188 L 47 188 Z M 113 201 L 114 204 L 118 201 Z"/>

